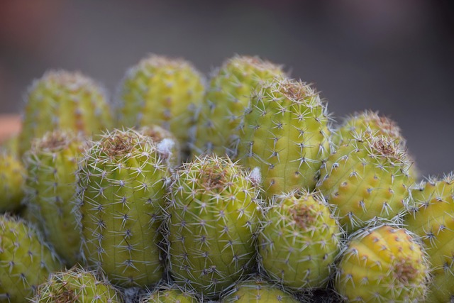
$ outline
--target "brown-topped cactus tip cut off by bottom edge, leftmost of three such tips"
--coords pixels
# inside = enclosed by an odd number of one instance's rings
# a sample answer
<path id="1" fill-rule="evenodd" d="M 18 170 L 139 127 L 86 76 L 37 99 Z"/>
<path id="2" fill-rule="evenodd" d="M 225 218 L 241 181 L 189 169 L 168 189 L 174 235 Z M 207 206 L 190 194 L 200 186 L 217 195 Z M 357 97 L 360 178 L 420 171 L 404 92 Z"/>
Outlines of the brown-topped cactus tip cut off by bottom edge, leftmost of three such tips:
<path id="1" fill-rule="evenodd" d="M 105 277 L 72 268 L 55 272 L 38 287 L 31 303 L 120 303 L 120 296 Z"/>

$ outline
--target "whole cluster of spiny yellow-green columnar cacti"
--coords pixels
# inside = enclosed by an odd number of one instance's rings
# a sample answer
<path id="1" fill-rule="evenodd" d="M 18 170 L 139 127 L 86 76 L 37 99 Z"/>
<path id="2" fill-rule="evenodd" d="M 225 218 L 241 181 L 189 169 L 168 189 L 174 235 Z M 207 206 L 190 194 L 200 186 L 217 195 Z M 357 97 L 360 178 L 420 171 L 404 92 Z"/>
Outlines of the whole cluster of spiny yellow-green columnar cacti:
<path id="1" fill-rule="evenodd" d="M 0 302 L 453 302 L 454 173 L 415 184 L 396 122 L 336 125 L 240 55 L 207 83 L 148 55 L 116 99 L 79 72 L 28 89 L 0 148 Z"/>

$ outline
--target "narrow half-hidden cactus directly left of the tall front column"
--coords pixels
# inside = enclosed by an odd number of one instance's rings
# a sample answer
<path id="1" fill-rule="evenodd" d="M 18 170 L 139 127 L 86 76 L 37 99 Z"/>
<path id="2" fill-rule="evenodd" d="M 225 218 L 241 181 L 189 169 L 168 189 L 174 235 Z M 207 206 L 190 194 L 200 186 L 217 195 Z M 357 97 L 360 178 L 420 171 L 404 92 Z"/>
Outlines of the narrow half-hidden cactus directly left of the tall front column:
<path id="1" fill-rule="evenodd" d="M 27 207 L 40 222 L 38 226 L 43 228 L 47 241 L 68 266 L 79 261 L 81 233 L 72 209 L 75 173 L 83 148 L 82 136 L 53 131 L 35 139 L 24 157 L 28 172 Z"/>

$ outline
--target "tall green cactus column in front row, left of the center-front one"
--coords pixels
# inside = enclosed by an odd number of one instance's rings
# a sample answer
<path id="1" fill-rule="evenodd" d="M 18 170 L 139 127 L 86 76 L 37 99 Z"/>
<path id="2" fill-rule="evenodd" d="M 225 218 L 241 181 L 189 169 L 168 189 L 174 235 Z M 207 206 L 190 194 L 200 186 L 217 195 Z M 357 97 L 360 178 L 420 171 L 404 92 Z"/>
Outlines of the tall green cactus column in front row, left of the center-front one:
<path id="1" fill-rule="evenodd" d="M 88 265 L 114 284 L 143 287 L 162 277 L 169 157 L 133 130 L 106 133 L 83 153 L 77 172 L 82 250 Z"/>

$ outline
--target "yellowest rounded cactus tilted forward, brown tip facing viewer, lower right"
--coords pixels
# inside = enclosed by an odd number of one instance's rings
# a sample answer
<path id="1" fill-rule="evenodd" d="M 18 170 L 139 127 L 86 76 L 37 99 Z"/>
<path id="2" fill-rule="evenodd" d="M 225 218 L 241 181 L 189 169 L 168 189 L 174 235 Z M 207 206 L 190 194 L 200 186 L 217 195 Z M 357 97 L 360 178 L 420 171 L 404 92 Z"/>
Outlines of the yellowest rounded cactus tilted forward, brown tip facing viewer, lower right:
<path id="1" fill-rule="evenodd" d="M 350 237 L 335 287 L 345 302 L 424 302 L 428 261 L 404 228 L 365 228 Z"/>

